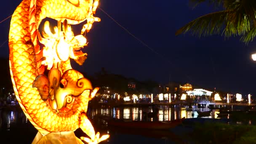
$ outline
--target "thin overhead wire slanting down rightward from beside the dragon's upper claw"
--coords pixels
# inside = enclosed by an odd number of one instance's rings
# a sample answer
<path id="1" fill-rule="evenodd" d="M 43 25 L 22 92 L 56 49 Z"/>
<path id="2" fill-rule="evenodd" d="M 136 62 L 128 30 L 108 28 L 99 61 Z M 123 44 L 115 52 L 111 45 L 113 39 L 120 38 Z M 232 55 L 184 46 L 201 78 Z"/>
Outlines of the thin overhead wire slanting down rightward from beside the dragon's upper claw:
<path id="1" fill-rule="evenodd" d="M 125 32 L 127 32 L 129 35 L 131 35 L 132 37 L 134 37 L 136 40 L 138 40 L 142 45 L 146 46 L 147 48 L 149 48 L 149 50 L 151 50 L 152 52 L 154 52 L 155 54 L 157 54 L 158 56 L 160 56 L 162 59 L 165 59 L 166 61 L 168 61 L 169 64 L 173 65 L 174 64 L 167 59 L 165 56 L 163 56 L 162 54 L 158 53 L 157 51 L 155 51 L 153 48 L 149 47 L 149 45 L 147 45 L 146 43 L 144 43 L 142 40 L 140 40 L 138 37 L 136 37 L 135 35 L 133 35 L 130 31 L 128 31 L 128 29 L 126 29 L 125 27 L 123 27 L 121 24 L 119 24 L 112 16 L 110 16 L 106 11 L 104 11 L 102 8 L 100 8 L 99 6 L 97 7 L 99 8 L 103 13 L 105 13 L 110 19 L 112 19 L 112 21 L 114 21 L 119 27 L 121 27 L 122 29 L 125 30 Z M 191 78 L 185 74 L 185 76 L 190 80 Z"/>

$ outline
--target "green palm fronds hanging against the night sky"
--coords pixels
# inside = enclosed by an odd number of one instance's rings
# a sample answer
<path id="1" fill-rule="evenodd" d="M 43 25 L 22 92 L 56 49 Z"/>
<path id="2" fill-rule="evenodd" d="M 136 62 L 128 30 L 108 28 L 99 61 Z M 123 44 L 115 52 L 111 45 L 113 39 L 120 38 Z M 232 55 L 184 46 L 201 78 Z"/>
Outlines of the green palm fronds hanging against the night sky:
<path id="1" fill-rule="evenodd" d="M 256 0 L 190 0 L 198 5 L 208 2 L 217 9 L 213 13 L 200 16 L 181 27 L 175 35 L 189 31 L 193 35 L 208 36 L 221 34 L 225 37 L 240 36 L 248 43 L 256 36 Z"/>

